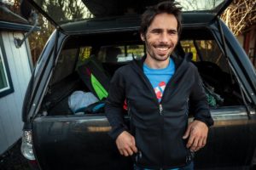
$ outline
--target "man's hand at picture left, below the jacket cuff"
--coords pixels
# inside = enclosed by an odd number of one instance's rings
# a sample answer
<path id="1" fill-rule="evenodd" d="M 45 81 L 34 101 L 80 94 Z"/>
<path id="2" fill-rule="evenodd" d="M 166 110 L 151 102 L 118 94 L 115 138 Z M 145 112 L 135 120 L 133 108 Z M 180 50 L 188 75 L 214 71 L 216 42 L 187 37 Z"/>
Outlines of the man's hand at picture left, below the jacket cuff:
<path id="1" fill-rule="evenodd" d="M 133 153 L 137 153 L 135 139 L 126 131 L 119 134 L 118 138 L 115 140 L 115 143 L 122 156 L 132 156 Z"/>

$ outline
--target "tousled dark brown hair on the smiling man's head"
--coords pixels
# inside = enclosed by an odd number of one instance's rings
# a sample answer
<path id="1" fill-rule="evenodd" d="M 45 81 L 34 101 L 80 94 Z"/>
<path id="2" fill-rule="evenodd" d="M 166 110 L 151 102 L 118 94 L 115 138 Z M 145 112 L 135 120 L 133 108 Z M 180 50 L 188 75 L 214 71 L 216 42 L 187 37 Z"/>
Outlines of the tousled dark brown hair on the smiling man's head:
<path id="1" fill-rule="evenodd" d="M 148 7 L 147 10 L 143 13 L 141 18 L 141 27 L 140 33 L 143 36 L 146 35 L 148 31 L 148 27 L 151 25 L 154 17 L 157 14 L 173 14 L 177 20 L 177 34 L 180 35 L 181 33 L 181 7 L 177 7 L 179 3 L 173 3 L 172 1 L 163 1 L 158 3 L 157 5 Z"/>

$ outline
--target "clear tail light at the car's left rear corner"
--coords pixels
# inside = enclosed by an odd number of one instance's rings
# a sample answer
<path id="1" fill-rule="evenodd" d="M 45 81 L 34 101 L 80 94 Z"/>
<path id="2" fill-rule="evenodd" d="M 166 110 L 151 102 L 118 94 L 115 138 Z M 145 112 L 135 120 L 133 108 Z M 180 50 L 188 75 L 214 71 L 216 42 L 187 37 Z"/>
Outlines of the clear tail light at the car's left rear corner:
<path id="1" fill-rule="evenodd" d="M 35 160 L 33 145 L 32 145 L 32 131 L 23 131 L 22 144 L 20 147 L 21 153 L 28 160 Z"/>

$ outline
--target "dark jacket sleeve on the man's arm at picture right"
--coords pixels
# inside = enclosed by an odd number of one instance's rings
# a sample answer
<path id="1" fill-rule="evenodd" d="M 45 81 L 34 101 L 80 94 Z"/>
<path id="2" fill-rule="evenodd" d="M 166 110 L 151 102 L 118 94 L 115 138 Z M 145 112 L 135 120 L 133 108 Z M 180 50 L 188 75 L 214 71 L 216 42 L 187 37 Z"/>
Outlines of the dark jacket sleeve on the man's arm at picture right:
<path id="1" fill-rule="evenodd" d="M 207 95 L 197 68 L 195 68 L 194 77 L 195 82 L 189 96 L 189 110 L 194 114 L 195 120 L 205 122 L 210 127 L 213 125 L 213 120 L 207 103 Z"/>

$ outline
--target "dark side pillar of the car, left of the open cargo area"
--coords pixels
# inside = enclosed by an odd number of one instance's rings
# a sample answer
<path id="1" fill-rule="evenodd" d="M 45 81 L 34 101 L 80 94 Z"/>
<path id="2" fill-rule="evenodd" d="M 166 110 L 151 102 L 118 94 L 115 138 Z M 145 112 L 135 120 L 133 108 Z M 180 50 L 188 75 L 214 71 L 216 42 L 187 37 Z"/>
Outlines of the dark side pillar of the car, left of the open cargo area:
<path id="1" fill-rule="evenodd" d="M 46 90 L 47 86 L 45 84 L 49 81 L 49 75 L 55 65 L 55 37 L 56 31 L 52 33 L 49 37 L 49 42 L 46 43 L 43 52 L 38 59 L 38 63 L 33 71 L 31 80 L 29 82 L 28 88 L 26 89 L 26 98 L 23 101 L 22 106 L 22 121 L 31 122 L 32 116 L 38 111 L 38 105 L 42 102 L 42 93 Z M 61 50 L 61 44 L 63 40 L 67 37 L 61 34 L 59 37 L 59 43 L 57 45 L 57 53 Z"/>

